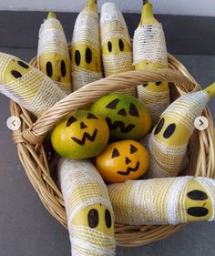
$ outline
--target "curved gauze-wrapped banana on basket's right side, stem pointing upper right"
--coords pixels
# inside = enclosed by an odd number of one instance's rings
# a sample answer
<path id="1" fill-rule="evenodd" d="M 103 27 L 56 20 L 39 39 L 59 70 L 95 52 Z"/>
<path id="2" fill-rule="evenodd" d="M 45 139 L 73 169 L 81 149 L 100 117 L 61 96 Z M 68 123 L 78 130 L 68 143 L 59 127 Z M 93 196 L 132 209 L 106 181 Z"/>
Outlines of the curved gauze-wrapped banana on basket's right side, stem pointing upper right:
<path id="1" fill-rule="evenodd" d="M 148 178 L 178 176 L 194 130 L 194 120 L 214 95 L 215 83 L 179 97 L 162 113 L 148 141 Z"/>

